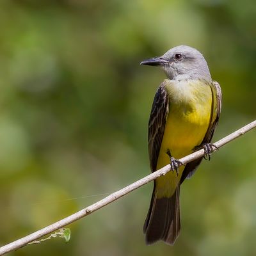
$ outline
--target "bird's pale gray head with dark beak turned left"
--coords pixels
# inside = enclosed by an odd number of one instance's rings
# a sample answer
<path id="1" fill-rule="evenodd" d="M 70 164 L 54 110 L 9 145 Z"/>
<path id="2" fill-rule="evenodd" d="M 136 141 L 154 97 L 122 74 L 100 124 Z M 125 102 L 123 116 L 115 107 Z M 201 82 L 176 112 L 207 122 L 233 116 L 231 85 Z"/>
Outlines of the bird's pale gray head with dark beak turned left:
<path id="1" fill-rule="evenodd" d="M 142 61 L 140 64 L 159 66 L 172 80 L 204 79 L 211 81 L 211 74 L 204 56 L 186 45 L 174 47 L 163 56 Z"/>

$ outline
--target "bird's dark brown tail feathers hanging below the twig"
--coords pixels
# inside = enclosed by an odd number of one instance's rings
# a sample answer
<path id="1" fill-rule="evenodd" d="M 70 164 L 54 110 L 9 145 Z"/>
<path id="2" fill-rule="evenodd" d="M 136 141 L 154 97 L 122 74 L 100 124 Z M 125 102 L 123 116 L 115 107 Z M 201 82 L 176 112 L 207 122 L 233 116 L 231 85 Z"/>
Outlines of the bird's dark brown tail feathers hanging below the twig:
<path id="1" fill-rule="evenodd" d="M 143 227 L 146 243 L 152 244 L 163 240 L 173 245 L 180 233 L 180 185 L 170 198 L 157 198 L 155 191 L 156 186 Z"/>

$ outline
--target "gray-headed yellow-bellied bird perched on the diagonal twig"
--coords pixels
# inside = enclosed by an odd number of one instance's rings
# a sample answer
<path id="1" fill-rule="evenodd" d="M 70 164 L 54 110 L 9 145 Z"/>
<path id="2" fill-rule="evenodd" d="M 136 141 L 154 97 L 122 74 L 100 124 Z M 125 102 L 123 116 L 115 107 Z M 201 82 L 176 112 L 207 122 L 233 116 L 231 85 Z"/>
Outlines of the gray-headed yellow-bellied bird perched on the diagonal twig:
<path id="1" fill-rule="evenodd" d="M 221 112 L 221 87 L 212 81 L 204 56 L 193 47 L 173 47 L 163 56 L 141 61 L 161 67 L 166 79 L 156 91 L 148 122 L 150 168 L 170 164 L 170 172 L 154 180 L 143 226 L 146 244 L 162 240 L 173 245 L 180 234 L 180 185 L 202 158 L 184 165 L 178 159 L 204 148 L 206 156 Z M 179 167 L 179 168 L 178 168 Z"/>

